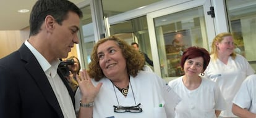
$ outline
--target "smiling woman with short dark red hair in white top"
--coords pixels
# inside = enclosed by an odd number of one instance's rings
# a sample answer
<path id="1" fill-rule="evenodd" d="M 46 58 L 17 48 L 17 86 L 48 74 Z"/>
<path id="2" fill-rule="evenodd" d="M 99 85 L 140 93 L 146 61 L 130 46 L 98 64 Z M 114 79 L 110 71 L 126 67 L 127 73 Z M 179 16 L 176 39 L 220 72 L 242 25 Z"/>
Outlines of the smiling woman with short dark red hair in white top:
<path id="1" fill-rule="evenodd" d="M 189 47 L 184 51 L 181 67 L 185 75 L 169 82 L 182 98 L 175 108 L 176 118 L 215 118 L 225 109 L 218 85 L 202 77 L 209 61 L 210 55 L 203 48 Z"/>

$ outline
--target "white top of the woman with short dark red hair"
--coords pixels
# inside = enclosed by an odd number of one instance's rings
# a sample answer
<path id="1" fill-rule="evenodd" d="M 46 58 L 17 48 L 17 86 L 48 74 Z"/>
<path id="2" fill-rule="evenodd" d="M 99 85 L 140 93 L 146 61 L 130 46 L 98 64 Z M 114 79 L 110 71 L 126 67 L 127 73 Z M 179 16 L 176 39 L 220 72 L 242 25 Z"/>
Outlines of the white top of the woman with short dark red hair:
<path id="1" fill-rule="evenodd" d="M 176 118 L 216 118 L 215 110 L 223 110 L 226 103 L 218 85 L 208 79 L 202 82 L 195 90 L 189 90 L 184 85 L 181 76 L 169 82 L 169 86 L 181 97 L 176 106 Z"/>

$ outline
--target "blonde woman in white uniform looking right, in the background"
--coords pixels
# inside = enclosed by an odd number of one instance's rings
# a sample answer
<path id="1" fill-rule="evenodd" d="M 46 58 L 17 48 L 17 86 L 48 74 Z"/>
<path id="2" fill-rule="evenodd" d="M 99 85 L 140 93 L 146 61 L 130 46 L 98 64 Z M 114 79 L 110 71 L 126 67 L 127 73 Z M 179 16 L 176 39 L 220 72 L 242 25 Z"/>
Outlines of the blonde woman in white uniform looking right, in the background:
<path id="1" fill-rule="evenodd" d="M 237 117 L 232 112 L 232 100 L 245 78 L 255 71 L 248 61 L 234 52 L 234 39 L 230 33 L 220 33 L 211 44 L 211 60 L 205 77 L 215 81 L 227 103 L 220 117 Z"/>

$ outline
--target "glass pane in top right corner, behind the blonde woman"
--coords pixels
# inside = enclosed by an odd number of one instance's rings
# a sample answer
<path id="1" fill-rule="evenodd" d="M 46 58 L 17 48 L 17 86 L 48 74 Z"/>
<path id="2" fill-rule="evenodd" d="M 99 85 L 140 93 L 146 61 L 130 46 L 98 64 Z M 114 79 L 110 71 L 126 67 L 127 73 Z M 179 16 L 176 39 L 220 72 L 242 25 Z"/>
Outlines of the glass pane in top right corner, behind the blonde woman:
<path id="1" fill-rule="evenodd" d="M 226 5 L 237 53 L 247 58 L 256 69 L 256 1 L 226 0 Z"/>

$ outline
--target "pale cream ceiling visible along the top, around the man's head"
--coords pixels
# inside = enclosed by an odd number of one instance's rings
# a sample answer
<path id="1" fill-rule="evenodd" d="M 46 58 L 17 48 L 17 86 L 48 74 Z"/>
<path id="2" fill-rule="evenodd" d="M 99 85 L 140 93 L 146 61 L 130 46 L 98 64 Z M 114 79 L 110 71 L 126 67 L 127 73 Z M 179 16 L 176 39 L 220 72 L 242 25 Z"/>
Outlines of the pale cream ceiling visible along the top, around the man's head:
<path id="1" fill-rule="evenodd" d="M 91 0 L 70 0 L 79 5 L 82 2 L 88 2 Z M 145 6 L 156 1 L 161 0 L 147 0 L 147 1 L 119 1 L 119 0 L 105 0 L 103 1 L 104 9 L 108 11 L 124 12 L 134 7 Z M 0 31 L 1 30 L 20 30 L 29 26 L 30 12 L 19 13 L 17 10 L 29 9 L 31 10 L 36 0 L 0 0 Z M 134 4 L 136 2 L 136 4 Z M 3 4 L 4 3 L 4 4 Z M 114 4 L 118 6 L 113 7 Z"/>

